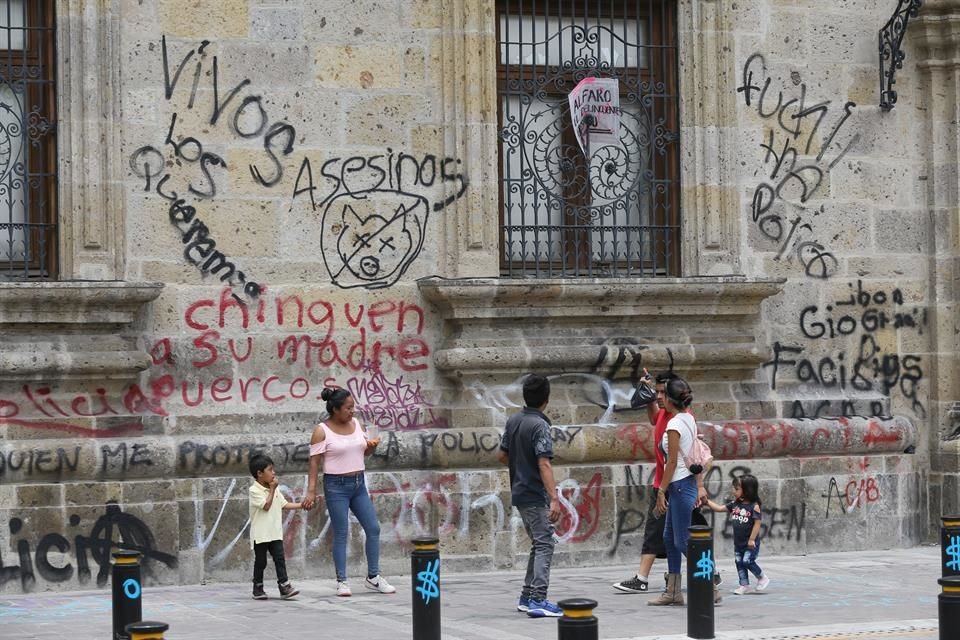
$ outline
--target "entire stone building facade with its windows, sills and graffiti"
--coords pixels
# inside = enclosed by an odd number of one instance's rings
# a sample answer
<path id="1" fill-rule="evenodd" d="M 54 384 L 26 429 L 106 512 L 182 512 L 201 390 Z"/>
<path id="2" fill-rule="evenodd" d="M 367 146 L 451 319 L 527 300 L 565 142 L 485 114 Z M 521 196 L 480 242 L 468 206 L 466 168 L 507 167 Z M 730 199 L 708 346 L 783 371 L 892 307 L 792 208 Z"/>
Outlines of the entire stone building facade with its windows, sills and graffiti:
<path id="1" fill-rule="evenodd" d="M 55 241 L 18 258 L 0 206 L 0 591 L 103 586 L 118 547 L 249 579 L 249 456 L 302 495 L 333 384 L 383 437 L 389 573 L 427 533 L 446 571 L 525 562 L 495 450 L 528 371 L 558 564 L 639 554 L 642 368 L 690 380 L 712 495 L 760 478 L 769 553 L 960 510 L 960 1 L 901 3 L 894 85 L 877 0 L 37 4 Z M 616 143 L 574 130 L 591 77 Z M 323 509 L 285 545 L 333 577 Z"/>

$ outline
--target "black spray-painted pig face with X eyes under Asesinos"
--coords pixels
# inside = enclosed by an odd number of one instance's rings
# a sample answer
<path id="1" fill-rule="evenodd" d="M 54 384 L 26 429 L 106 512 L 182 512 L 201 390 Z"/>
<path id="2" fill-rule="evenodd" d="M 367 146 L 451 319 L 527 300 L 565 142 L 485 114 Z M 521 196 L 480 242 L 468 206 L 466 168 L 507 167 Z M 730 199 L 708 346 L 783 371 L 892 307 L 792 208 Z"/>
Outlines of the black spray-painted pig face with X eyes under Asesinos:
<path id="1" fill-rule="evenodd" d="M 420 253 L 428 213 L 426 199 L 398 191 L 334 198 L 324 212 L 322 236 L 334 284 L 376 289 L 395 283 Z"/>

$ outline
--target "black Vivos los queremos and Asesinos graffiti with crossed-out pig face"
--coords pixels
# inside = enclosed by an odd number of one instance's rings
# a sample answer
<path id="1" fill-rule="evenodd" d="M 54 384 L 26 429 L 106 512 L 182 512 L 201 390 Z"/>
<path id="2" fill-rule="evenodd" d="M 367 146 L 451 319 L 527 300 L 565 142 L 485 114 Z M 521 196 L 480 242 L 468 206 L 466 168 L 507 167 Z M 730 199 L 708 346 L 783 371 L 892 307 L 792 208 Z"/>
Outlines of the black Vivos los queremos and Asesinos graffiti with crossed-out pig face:
<path id="1" fill-rule="evenodd" d="M 130 170 L 143 181 L 144 192 L 166 201 L 184 259 L 205 278 L 230 286 L 240 302 L 257 299 L 264 285 L 218 249 L 216 239 L 228 231 L 208 226 L 211 216 L 198 205 L 215 201 L 228 176 L 234 186 L 249 180 L 255 189 L 289 189 L 291 212 L 298 199 L 306 201 L 302 196 L 309 195 L 310 207 L 295 213 L 312 221 L 321 211 L 320 234 L 317 240 L 302 241 L 319 242 L 331 282 L 345 289 L 395 284 L 424 246 L 429 214 L 467 191 L 460 159 L 415 157 L 390 148 L 366 156 L 293 160 L 299 171 L 292 187 L 285 186 L 287 157 L 304 137 L 297 138 L 292 124 L 268 112 L 269 99 L 255 91 L 249 78 L 222 79 L 219 56 L 213 53 L 216 45 L 210 40 L 182 45 L 179 52 L 165 36 L 160 45 L 164 104 L 170 109 L 165 139 L 159 147 L 144 145 L 134 151 Z M 218 126 L 226 131 L 215 131 Z M 244 147 L 258 141 L 262 150 L 259 155 L 244 154 L 250 158 L 246 167 L 228 166 L 204 135 L 215 137 L 219 147 L 226 135 Z M 319 168 L 316 181 L 314 166 Z M 441 187 L 440 199 L 431 201 Z"/>

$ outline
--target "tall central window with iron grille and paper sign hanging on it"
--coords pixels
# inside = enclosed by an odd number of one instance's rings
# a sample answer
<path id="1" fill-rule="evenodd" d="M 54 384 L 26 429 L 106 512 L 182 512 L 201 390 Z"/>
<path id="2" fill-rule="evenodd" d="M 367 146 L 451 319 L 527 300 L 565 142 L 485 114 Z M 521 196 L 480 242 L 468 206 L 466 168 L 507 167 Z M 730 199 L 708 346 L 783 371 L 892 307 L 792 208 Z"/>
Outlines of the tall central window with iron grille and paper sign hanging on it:
<path id="1" fill-rule="evenodd" d="M 680 274 L 673 0 L 498 0 L 501 271 Z M 615 78 L 619 144 L 575 137 L 568 95 Z"/>

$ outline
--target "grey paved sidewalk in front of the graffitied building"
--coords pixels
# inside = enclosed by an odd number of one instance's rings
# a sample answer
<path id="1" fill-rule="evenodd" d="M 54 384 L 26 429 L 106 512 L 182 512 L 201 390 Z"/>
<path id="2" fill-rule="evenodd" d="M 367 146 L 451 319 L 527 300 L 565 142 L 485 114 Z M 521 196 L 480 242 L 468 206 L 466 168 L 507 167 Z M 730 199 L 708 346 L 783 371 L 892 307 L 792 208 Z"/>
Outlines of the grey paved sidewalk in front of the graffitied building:
<path id="1" fill-rule="evenodd" d="M 720 640 L 938 640 L 940 550 L 770 556 L 760 564 L 771 578 L 762 594 L 734 596 L 733 560 L 721 559 L 724 600 L 716 609 Z M 662 573 L 665 562 L 658 561 Z M 621 594 L 610 585 L 635 567 L 555 568 L 551 599 L 583 596 L 599 602 L 602 640 L 683 640 L 686 608 L 648 607 L 655 597 Z M 658 574 L 659 575 L 659 574 Z M 412 638 L 410 576 L 390 576 L 397 595 L 365 591 L 334 596 L 332 580 L 296 580 L 300 596 L 250 599 L 250 585 L 146 587 L 144 617 L 170 624 L 168 640 L 236 638 Z M 515 610 L 522 574 L 450 574 L 441 568 L 444 640 L 555 640 L 554 619 Z M 110 591 L 0 596 L 2 640 L 94 640 L 111 635 Z M 952 638 L 960 639 L 960 629 Z"/>

